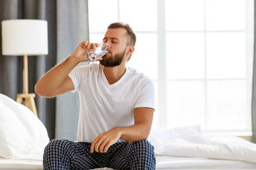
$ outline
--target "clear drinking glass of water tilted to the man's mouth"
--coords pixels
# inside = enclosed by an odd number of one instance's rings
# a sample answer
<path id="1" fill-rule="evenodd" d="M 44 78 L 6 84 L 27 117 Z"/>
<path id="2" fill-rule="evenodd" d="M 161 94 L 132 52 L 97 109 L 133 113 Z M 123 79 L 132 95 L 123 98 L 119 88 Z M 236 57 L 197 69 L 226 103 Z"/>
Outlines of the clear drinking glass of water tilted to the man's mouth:
<path id="1" fill-rule="evenodd" d="M 107 54 L 109 50 L 110 50 L 110 45 L 108 45 L 106 42 L 101 42 L 99 47 L 87 53 L 87 59 L 89 60 L 89 62 L 96 62 L 97 60 L 100 59 L 100 57 Z"/>

